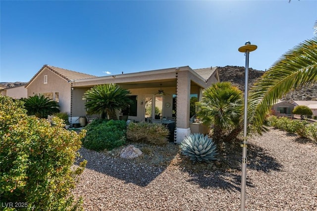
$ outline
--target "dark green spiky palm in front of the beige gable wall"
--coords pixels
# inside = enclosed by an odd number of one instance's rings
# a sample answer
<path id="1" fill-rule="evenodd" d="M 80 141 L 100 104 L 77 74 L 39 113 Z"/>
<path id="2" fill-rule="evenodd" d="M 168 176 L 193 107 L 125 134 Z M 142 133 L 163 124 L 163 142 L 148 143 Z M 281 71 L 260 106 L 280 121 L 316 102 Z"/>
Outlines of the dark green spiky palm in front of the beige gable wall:
<path id="1" fill-rule="evenodd" d="M 58 103 L 43 95 L 40 97 L 35 95 L 23 99 L 23 101 L 28 115 L 35 115 L 38 118 L 47 118 L 48 115 L 59 112 Z"/>

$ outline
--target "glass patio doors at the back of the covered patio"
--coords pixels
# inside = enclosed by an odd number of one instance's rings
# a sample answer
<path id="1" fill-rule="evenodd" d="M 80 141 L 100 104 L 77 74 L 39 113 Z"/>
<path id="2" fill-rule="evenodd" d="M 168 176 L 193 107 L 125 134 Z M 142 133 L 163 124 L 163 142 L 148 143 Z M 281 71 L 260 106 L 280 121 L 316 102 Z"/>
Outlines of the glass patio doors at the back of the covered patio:
<path id="1" fill-rule="evenodd" d="M 144 96 L 144 118 L 146 122 L 152 122 L 153 119 L 161 119 L 163 113 L 163 96 L 145 95 Z"/>

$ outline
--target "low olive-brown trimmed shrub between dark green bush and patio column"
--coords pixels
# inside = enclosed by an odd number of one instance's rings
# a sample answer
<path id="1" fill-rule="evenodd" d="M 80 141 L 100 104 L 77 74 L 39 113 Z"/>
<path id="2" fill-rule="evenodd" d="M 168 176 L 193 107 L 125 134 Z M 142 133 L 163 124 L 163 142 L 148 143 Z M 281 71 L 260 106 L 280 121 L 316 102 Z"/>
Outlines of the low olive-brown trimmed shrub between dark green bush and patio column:
<path id="1" fill-rule="evenodd" d="M 130 123 L 127 138 L 130 141 L 145 142 L 154 145 L 167 144 L 169 130 L 161 124 Z"/>

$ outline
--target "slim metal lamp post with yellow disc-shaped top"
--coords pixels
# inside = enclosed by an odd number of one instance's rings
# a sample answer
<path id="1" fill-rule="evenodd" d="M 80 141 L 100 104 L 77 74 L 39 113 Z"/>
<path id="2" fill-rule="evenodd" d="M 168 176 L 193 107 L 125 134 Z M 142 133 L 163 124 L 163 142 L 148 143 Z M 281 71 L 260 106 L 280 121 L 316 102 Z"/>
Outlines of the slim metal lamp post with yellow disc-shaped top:
<path id="1" fill-rule="evenodd" d="M 248 124 L 248 80 L 249 80 L 249 53 L 258 47 L 246 42 L 238 51 L 246 55 L 245 83 L 244 83 L 244 125 L 243 125 L 243 144 L 242 147 L 242 175 L 241 175 L 241 211 L 245 210 L 246 202 L 246 179 L 247 179 L 247 124 Z"/>

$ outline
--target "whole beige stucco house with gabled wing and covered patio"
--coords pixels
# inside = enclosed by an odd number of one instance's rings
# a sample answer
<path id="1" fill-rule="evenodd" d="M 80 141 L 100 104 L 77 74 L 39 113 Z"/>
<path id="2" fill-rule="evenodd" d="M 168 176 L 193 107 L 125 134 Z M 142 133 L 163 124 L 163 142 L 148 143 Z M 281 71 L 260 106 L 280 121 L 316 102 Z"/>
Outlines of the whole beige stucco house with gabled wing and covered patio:
<path id="1" fill-rule="evenodd" d="M 86 115 L 84 93 L 99 84 L 115 83 L 131 92 L 129 120 L 154 121 L 155 116 L 176 122 L 174 142 L 190 131 L 190 98 L 202 98 L 202 91 L 219 82 L 217 67 L 193 70 L 189 66 L 96 77 L 44 65 L 26 85 L 28 96 L 42 94 L 59 102 L 69 113 L 70 123 Z M 157 109 L 159 113 L 155 112 Z M 123 111 L 118 111 L 119 116 Z"/>

